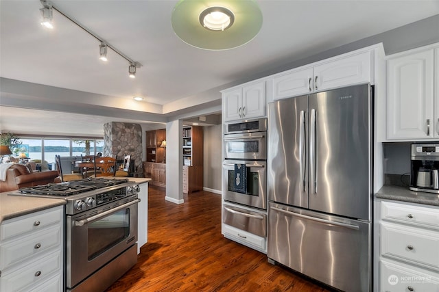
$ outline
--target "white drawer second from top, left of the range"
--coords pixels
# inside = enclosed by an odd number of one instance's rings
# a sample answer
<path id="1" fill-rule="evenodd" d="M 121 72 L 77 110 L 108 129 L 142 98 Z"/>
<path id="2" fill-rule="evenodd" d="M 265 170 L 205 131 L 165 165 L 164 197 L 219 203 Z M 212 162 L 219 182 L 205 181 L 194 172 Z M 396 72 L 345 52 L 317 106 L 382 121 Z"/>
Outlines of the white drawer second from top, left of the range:
<path id="1" fill-rule="evenodd" d="M 43 254 L 56 247 L 62 250 L 62 233 L 59 225 L 38 230 L 30 236 L 24 235 L 2 242 L 0 243 L 0 269 L 7 269 L 31 256 Z"/>

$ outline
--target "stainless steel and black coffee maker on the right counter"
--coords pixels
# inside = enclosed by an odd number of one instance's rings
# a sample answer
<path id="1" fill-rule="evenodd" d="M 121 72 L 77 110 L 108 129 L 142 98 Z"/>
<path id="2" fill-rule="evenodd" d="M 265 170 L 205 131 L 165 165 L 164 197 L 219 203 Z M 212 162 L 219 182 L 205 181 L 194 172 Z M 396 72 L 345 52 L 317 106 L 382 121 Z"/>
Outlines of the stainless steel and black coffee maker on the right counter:
<path id="1" fill-rule="evenodd" d="M 412 144 L 410 189 L 439 194 L 439 144 Z"/>

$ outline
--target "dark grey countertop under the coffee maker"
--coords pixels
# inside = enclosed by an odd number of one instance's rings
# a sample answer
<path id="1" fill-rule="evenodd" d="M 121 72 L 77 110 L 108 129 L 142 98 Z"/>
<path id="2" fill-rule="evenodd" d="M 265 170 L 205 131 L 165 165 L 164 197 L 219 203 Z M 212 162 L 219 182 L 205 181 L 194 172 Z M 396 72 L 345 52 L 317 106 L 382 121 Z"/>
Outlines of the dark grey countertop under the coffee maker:
<path id="1" fill-rule="evenodd" d="M 384 185 L 375 196 L 380 199 L 427 204 L 439 207 L 439 194 L 425 193 L 423 191 L 410 191 L 408 187 Z"/>

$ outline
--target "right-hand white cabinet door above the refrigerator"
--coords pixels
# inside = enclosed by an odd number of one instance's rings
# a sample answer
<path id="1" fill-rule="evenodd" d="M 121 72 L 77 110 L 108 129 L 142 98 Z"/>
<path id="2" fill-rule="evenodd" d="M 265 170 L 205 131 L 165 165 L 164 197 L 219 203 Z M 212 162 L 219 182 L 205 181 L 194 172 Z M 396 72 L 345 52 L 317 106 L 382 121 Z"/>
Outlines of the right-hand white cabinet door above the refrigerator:
<path id="1" fill-rule="evenodd" d="M 314 91 L 368 83 L 370 63 L 370 52 L 364 52 L 315 66 Z"/>

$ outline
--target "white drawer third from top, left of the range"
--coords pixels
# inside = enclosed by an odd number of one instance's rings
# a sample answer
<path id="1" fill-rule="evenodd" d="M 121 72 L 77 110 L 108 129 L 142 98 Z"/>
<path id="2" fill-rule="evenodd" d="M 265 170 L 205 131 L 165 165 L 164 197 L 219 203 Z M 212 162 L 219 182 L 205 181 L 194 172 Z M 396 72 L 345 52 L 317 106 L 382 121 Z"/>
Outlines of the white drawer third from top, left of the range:
<path id="1" fill-rule="evenodd" d="M 37 261 L 20 265 L 11 272 L 8 269 L 5 270 L 0 278 L 0 291 L 29 291 L 24 288 L 34 287 L 56 273 L 62 273 L 60 250 L 46 256 L 40 256 Z"/>

